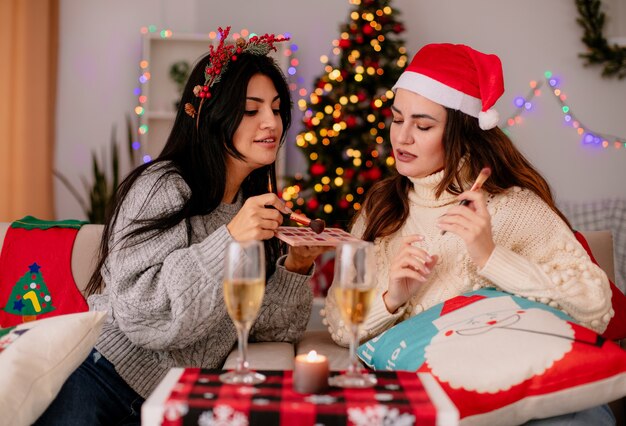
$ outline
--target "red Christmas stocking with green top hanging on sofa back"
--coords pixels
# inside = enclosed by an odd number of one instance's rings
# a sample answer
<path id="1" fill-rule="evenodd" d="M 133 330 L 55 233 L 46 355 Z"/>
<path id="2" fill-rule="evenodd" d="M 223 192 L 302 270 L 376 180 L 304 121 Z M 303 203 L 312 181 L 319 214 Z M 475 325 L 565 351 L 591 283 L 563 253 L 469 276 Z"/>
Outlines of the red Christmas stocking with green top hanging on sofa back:
<path id="1" fill-rule="evenodd" d="M 0 253 L 0 327 L 88 310 L 71 269 L 84 223 L 27 216 L 11 224 Z"/>

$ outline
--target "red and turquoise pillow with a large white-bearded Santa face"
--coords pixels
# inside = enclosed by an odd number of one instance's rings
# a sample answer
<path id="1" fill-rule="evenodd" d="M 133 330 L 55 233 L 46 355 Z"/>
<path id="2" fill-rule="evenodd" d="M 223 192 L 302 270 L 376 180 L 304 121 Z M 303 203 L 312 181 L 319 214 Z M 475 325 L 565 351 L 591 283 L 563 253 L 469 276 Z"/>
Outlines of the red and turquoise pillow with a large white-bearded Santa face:
<path id="1" fill-rule="evenodd" d="M 561 311 L 495 289 L 411 317 L 358 355 L 375 370 L 431 373 L 464 425 L 521 424 L 626 395 L 626 351 Z"/>

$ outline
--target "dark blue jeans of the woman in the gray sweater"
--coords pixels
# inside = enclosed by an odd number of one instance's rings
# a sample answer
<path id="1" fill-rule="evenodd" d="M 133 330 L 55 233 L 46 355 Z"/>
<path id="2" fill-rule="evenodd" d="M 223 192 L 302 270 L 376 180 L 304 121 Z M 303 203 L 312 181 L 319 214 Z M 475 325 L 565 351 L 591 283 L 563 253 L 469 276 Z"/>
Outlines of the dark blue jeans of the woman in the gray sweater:
<path id="1" fill-rule="evenodd" d="M 139 425 L 143 402 L 113 364 L 93 349 L 34 424 Z"/>

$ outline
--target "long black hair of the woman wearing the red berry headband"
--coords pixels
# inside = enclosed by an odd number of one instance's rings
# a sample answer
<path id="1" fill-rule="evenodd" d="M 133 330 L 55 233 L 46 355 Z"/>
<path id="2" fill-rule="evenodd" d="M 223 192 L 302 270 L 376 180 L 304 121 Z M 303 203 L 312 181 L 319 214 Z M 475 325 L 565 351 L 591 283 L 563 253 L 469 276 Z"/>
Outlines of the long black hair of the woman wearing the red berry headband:
<path id="1" fill-rule="evenodd" d="M 170 174 L 177 174 L 191 189 L 191 196 L 180 210 L 145 220 L 136 220 L 135 223 L 140 226 L 125 234 L 123 240 L 129 241 L 131 237 L 141 235 L 142 237 L 133 240 L 145 241 L 192 216 L 206 215 L 221 203 L 226 187 L 226 156 L 245 159 L 233 145 L 232 139 L 243 118 L 248 82 L 254 75 L 262 74 L 269 77 L 278 92 L 280 117 L 283 123 L 280 144 L 284 143 L 291 125 L 291 95 L 285 76 L 274 60 L 264 55 L 249 53 L 238 55 L 236 61 L 230 61 L 220 81 L 211 87 L 211 98 L 205 99 L 202 108 L 199 108 L 200 98 L 194 95 L 193 89 L 196 85 L 204 83 L 204 69 L 208 63 L 207 54 L 199 59 L 193 68 L 183 90 L 174 126 L 159 156 L 152 162 L 134 169 L 117 188 L 107 213 L 97 267 L 87 284 L 88 295 L 100 291 L 103 286 L 100 272 L 112 249 L 109 247 L 109 240 L 113 224 L 131 187 L 149 167 L 167 164 L 167 172 L 159 178 L 151 191 L 158 190 L 161 181 Z M 197 121 L 185 112 L 186 103 L 194 105 L 195 109 L 199 110 Z M 149 172 L 150 170 L 147 171 Z M 241 185 L 244 199 L 268 192 L 268 181 L 272 183 L 271 188 L 276 188 L 275 176 L 275 163 L 254 170 Z M 149 199 L 150 197 L 146 197 L 146 200 Z M 266 273 L 269 276 L 276 268 L 275 263 L 283 247 L 276 238 L 266 240 L 264 244 Z"/>

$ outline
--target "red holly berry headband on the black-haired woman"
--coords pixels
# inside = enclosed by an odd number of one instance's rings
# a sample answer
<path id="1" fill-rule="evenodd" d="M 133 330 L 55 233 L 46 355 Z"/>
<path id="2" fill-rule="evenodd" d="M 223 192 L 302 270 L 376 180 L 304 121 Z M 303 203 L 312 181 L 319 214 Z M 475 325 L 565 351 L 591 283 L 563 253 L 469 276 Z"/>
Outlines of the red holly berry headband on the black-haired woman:
<path id="1" fill-rule="evenodd" d="M 222 77 L 230 61 L 236 61 L 237 55 L 242 53 L 250 53 L 257 56 L 265 56 L 269 52 L 276 51 L 274 43 L 280 43 L 289 40 L 288 37 L 275 36 L 274 34 L 264 34 L 262 36 L 253 36 L 249 40 L 245 38 L 238 38 L 235 44 L 225 44 L 226 37 L 230 32 L 230 27 L 217 29 L 219 33 L 220 42 L 215 48 L 213 45 L 209 46 L 209 63 L 204 69 L 204 85 L 197 85 L 193 88 L 193 94 L 200 98 L 200 105 L 198 111 L 191 103 L 185 104 L 185 112 L 191 116 L 191 118 L 199 119 L 200 110 L 205 99 L 211 97 L 211 87 L 215 83 L 218 83 Z M 197 119 L 197 120 L 198 120 Z M 196 120 L 196 128 L 198 127 L 198 121 Z"/>

